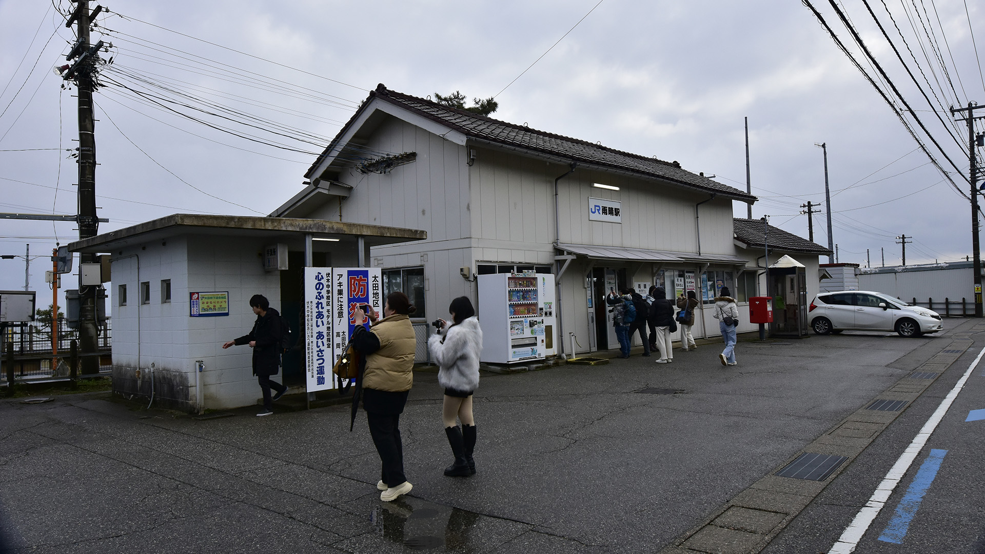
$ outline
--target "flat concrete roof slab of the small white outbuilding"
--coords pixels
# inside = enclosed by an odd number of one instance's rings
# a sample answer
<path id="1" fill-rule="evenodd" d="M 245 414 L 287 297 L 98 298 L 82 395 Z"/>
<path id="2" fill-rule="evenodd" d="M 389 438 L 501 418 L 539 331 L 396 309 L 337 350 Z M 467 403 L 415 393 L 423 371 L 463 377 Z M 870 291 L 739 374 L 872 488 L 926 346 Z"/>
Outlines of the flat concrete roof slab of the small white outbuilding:
<path id="1" fill-rule="evenodd" d="M 122 246 L 184 235 L 261 238 L 289 243 L 303 241 L 305 235 L 312 235 L 321 239 L 339 239 L 337 243 L 340 245 L 362 237 L 369 246 L 427 239 L 427 232 L 417 229 L 321 219 L 172 214 L 82 241 L 69 242 L 68 249 L 73 252 L 106 252 Z"/>

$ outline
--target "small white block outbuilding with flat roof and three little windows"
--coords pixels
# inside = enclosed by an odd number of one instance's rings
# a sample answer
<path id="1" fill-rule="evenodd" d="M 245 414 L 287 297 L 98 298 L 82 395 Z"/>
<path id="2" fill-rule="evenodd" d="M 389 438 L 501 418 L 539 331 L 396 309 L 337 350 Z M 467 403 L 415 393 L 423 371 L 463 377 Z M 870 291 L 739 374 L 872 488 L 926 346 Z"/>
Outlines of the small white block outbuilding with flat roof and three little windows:
<path id="1" fill-rule="evenodd" d="M 261 396 L 249 347 L 222 348 L 252 328 L 250 297 L 267 297 L 287 319 L 295 345 L 274 379 L 304 392 L 305 268 L 364 268 L 370 246 L 424 239 L 336 221 L 175 214 L 69 249 L 110 255 L 113 391 L 194 412 Z"/>

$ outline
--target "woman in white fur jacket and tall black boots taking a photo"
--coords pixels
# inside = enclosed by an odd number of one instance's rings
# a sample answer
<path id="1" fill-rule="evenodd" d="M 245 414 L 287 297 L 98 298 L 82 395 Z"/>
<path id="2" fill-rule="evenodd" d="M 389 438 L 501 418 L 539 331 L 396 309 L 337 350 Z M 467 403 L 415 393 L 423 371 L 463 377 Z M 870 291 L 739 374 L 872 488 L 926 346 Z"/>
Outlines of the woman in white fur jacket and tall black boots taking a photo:
<path id="1" fill-rule="evenodd" d="M 437 382 L 444 387 L 444 433 L 455 454 L 455 462 L 444 468 L 449 477 L 476 472 L 472 452 L 476 448 L 476 422 L 472 416 L 472 393 L 479 386 L 479 354 L 483 350 L 483 329 L 468 297 L 458 297 L 448 307 L 452 323 L 438 319 L 441 327 L 427 339 L 431 356 L 437 361 Z M 455 417 L 462 422 L 459 429 Z"/>

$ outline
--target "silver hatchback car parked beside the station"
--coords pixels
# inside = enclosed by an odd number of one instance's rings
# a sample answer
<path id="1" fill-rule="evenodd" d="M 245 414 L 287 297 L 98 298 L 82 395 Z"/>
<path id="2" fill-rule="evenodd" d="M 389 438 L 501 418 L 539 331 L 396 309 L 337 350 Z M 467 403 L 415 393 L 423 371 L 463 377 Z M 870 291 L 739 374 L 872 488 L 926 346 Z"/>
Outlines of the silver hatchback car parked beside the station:
<path id="1" fill-rule="evenodd" d="M 808 317 L 819 335 L 855 330 L 896 331 L 913 337 L 941 330 L 938 312 L 872 291 L 822 293 L 811 303 Z"/>

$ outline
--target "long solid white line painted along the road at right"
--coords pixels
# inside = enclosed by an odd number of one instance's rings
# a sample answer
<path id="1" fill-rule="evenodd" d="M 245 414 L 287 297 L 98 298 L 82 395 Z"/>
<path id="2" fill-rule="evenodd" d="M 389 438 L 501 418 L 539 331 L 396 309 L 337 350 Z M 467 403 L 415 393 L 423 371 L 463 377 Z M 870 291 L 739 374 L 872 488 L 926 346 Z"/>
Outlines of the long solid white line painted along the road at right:
<path id="1" fill-rule="evenodd" d="M 917 436 L 913 438 L 913 442 L 910 443 L 906 450 L 896 460 L 896 463 L 892 465 L 889 472 L 886 473 L 886 477 L 883 482 L 876 487 L 876 492 L 872 494 L 869 498 L 869 502 L 866 503 L 865 507 L 859 510 L 859 513 L 855 515 L 855 519 L 852 520 L 851 524 L 845 528 L 844 532 L 841 533 L 841 537 L 838 538 L 838 542 L 834 543 L 834 546 L 828 550 L 828 554 L 850 554 L 855 551 L 858 546 L 859 541 L 862 540 L 862 536 L 867 530 L 869 530 L 869 525 L 872 524 L 873 520 L 879 516 L 880 511 L 886 506 L 886 501 L 889 500 L 889 495 L 892 494 L 893 489 L 899 484 L 900 479 L 906 474 L 906 470 L 909 469 L 910 464 L 916 459 L 920 450 L 923 449 L 927 441 L 930 440 L 931 434 L 937 429 L 938 424 L 944 419 L 945 414 L 951 408 L 951 404 L 954 398 L 957 398 L 957 394 L 964 387 L 964 383 L 968 381 L 971 377 L 971 372 L 978 367 L 978 363 L 981 361 L 982 356 L 985 356 L 985 348 L 982 348 L 981 352 L 978 353 L 978 357 L 975 358 L 974 362 L 968 366 L 968 370 L 964 372 L 961 379 L 954 384 L 951 392 L 941 401 L 941 405 L 937 407 L 934 411 L 934 415 L 930 416 L 927 423 L 924 424 L 923 428 L 917 433 Z"/>

